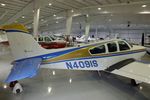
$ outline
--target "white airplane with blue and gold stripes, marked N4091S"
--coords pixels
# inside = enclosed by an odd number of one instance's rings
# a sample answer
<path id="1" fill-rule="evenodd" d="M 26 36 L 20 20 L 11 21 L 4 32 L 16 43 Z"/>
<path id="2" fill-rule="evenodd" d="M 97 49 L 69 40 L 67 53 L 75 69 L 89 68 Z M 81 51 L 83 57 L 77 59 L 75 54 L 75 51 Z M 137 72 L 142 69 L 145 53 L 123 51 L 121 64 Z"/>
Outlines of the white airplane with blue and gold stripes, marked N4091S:
<path id="1" fill-rule="evenodd" d="M 145 83 L 150 83 L 150 64 L 139 60 L 146 53 L 143 46 L 130 45 L 125 40 L 104 40 L 97 43 L 61 49 L 42 48 L 20 24 L 3 26 L 6 31 L 12 65 L 0 60 L 0 67 L 12 67 L 6 83 L 34 77 L 40 68 L 106 71 Z M 1 71 L 1 74 L 3 71 Z"/>

